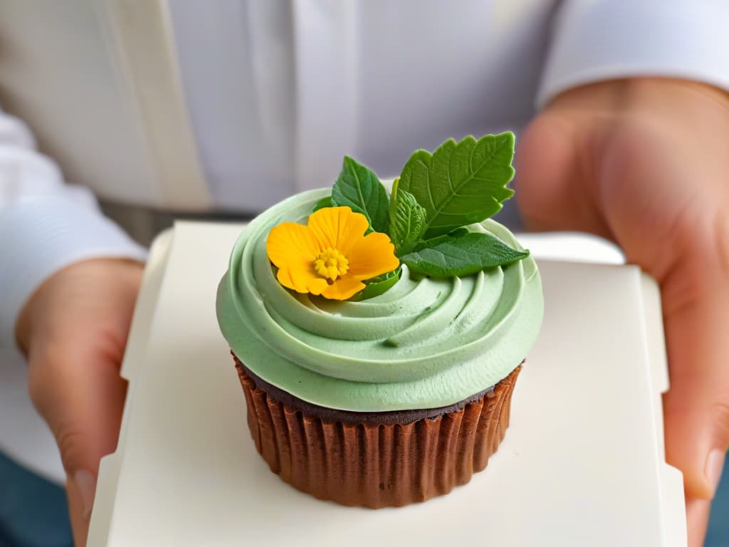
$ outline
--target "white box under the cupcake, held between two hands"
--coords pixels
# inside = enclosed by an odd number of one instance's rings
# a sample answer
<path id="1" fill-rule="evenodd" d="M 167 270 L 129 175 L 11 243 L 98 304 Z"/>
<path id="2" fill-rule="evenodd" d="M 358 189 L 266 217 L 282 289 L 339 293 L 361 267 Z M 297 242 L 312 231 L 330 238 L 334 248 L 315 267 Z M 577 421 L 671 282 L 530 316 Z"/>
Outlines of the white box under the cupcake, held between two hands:
<path id="1" fill-rule="evenodd" d="M 241 228 L 178 223 L 152 248 L 90 546 L 685 546 L 660 296 L 638 268 L 539 261 L 545 322 L 499 451 L 446 496 L 373 511 L 297 492 L 255 450 L 214 306 Z"/>

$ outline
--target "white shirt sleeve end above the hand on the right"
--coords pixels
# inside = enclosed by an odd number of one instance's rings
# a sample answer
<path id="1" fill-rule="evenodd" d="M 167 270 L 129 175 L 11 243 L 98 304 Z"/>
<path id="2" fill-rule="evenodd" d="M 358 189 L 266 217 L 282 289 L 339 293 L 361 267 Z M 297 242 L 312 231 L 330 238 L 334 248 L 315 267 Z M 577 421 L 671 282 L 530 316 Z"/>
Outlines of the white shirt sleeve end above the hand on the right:
<path id="1" fill-rule="evenodd" d="M 564 0 L 537 93 L 604 79 L 664 76 L 729 90 L 728 0 Z"/>

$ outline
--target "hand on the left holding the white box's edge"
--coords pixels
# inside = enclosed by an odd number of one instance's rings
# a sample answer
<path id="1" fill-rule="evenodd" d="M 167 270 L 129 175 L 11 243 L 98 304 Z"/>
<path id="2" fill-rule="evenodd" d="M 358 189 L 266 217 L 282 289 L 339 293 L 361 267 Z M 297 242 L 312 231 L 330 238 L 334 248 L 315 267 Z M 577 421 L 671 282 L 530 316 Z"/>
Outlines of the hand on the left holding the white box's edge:
<path id="1" fill-rule="evenodd" d="M 139 263 L 120 259 L 70 265 L 36 290 L 17 321 L 31 398 L 61 451 L 79 546 L 99 460 L 117 445 L 126 394 L 119 368 L 141 272 Z"/>

